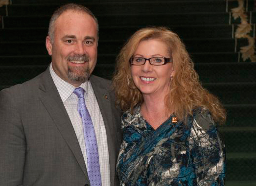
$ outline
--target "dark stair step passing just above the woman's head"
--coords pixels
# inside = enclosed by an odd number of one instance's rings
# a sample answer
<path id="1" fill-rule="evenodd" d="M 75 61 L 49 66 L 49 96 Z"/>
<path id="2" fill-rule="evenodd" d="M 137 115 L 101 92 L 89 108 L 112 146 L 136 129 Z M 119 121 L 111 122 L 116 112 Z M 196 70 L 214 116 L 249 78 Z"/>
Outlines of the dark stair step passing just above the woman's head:
<path id="1" fill-rule="evenodd" d="M 96 15 L 100 26 L 216 25 L 239 23 L 230 13 Z M 3 16 L 4 28 L 47 27 L 50 16 Z M 254 23 L 254 22 L 253 22 Z"/>

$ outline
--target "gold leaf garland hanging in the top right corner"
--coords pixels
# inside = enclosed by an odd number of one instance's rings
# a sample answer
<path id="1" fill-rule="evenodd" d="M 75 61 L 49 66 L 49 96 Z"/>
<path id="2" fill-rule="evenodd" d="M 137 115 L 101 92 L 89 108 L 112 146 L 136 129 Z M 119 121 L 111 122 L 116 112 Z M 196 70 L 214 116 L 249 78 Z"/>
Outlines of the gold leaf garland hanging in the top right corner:
<path id="1" fill-rule="evenodd" d="M 251 62 L 256 62 L 256 55 L 255 55 L 255 38 L 250 36 L 250 32 L 252 30 L 252 25 L 248 23 L 247 15 L 244 9 L 244 0 L 237 0 L 238 7 L 231 9 L 233 19 L 236 20 L 240 18 L 241 23 L 238 24 L 238 27 L 235 31 L 235 38 L 247 38 L 248 39 L 248 46 L 240 47 L 240 52 L 242 54 L 243 61 L 250 59 Z"/>

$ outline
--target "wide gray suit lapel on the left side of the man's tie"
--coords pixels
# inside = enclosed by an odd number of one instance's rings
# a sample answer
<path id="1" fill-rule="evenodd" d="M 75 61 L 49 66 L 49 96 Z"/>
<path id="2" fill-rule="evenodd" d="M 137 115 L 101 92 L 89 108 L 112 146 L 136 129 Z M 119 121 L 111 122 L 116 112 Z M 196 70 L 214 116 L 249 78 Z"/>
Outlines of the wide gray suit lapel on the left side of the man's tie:
<path id="1" fill-rule="evenodd" d="M 81 148 L 76 138 L 68 113 L 52 80 L 49 68 L 44 72 L 41 80 L 41 84 L 39 85 L 39 89 L 41 90 L 40 99 L 46 107 L 46 110 L 51 116 L 52 120 L 56 124 L 57 128 L 59 129 L 62 137 L 69 145 L 70 150 L 82 168 L 85 177 L 89 181 Z"/>

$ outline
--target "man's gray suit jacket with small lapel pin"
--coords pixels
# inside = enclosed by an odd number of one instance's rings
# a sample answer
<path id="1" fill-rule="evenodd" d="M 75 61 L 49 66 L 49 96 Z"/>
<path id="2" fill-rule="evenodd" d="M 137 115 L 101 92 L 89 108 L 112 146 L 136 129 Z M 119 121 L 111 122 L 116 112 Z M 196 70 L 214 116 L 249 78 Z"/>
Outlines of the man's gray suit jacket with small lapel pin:
<path id="1" fill-rule="evenodd" d="M 110 81 L 91 76 L 106 127 L 111 186 L 121 143 Z M 49 68 L 0 92 L 0 186 L 86 186 L 83 155 Z"/>

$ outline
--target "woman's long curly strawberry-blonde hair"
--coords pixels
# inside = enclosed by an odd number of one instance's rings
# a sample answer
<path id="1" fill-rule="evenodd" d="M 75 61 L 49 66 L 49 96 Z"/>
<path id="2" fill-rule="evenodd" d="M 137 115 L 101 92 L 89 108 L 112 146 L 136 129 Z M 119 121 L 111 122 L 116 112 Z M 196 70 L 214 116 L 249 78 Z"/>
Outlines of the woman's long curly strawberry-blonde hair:
<path id="1" fill-rule="evenodd" d="M 183 119 L 192 115 L 193 109 L 203 107 L 209 110 L 216 122 L 224 123 L 225 109 L 217 97 L 202 87 L 185 45 L 177 34 L 166 27 L 142 28 L 136 31 L 122 47 L 116 58 L 113 77 L 116 104 L 120 105 L 123 111 L 130 109 L 133 113 L 134 107 L 143 102 L 143 96 L 132 80 L 129 60 L 139 43 L 149 39 L 164 42 L 173 60 L 174 75 L 170 83 L 170 92 L 164 99 L 166 108 L 172 108 L 174 114 L 179 119 Z"/>

